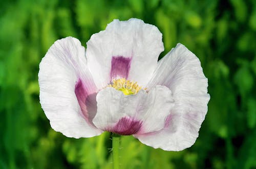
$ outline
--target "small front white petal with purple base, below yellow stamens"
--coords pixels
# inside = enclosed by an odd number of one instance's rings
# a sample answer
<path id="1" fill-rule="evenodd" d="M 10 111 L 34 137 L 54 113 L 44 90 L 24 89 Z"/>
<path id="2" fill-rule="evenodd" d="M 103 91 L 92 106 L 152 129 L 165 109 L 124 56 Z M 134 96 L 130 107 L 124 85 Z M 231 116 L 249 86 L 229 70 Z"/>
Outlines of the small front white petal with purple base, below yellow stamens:
<path id="1" fill-rule="evenodd" d="M 97 94 L 97 114 L 94 125 L 104 131 L 122 135 L 148 133 L 164 128 L 174 106 L 172 92 L 165 86 L 155 86 L 148 93 L 134 95 L 107 87 Z"/>

